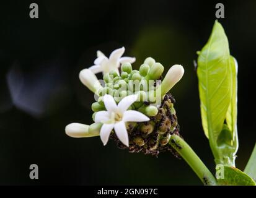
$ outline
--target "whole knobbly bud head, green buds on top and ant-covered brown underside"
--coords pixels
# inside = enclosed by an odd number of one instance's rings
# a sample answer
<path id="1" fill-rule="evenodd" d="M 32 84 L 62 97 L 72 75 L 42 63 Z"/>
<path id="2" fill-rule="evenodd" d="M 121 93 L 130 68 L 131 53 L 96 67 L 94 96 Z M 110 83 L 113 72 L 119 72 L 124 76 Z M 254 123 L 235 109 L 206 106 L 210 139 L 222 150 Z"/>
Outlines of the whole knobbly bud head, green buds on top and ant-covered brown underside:
<path id="1" fill-rule="evenodd" d="M 117 103 L 128 95 L 138 94 L 138 101 L 135 101 L 130 109 L 145 114 L 151 120 L 146 123 L 126 123 L 130 152 L 143 152 L 156 156 L 165 150 L 174 152 L 168 142 L 172 134 L 179 135 L 179 125 L 174 110 L 175 100 L 170 93 L 161 96 L 161 103 L 158 105 L 151 100 L 157 90 L 156 80 L 161 79 L 163 71 L 162 64 L 152 58 L 146 58 L 139 70 L 133 70 L 128 62 L 124 63 L 119 74 L 117 71 L 112 71 L 104 75 L 105 85 L 99 90 L 100 97 L 97 102 L 92 103 L 92 110 L 96 113 L 105 110 L 103 101 L 105 94 L 112 95 Z M 110 134 L 110 138 L 114 139 L 121 149 L 127 149 L 114 132 Z"/>

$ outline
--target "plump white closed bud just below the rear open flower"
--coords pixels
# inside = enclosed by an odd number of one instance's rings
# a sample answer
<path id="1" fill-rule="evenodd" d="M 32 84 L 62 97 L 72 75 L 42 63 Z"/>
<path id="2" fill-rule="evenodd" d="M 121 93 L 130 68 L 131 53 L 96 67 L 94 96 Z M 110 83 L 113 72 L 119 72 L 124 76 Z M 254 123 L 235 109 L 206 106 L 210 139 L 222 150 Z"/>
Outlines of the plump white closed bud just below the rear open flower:
<path id="1" fill-rule="evenodd" d="M 86 85 L 86 87 L 88 87 L 89 90 L 94 93 L 102 87 L 96 75 L 90 71 L 90 69 L 83 69 L 79 73 L 79 79 L 81 80 L 82 84 Z"/>

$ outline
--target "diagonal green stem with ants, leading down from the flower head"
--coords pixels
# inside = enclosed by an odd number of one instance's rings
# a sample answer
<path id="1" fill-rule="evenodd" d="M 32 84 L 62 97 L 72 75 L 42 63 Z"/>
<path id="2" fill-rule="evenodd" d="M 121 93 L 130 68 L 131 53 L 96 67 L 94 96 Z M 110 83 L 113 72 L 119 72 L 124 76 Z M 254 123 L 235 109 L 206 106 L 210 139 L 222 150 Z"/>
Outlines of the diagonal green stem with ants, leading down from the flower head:
<path id="1" fill-rule="evenodd" d="M 181 137 L 173 135 L 169 144 L 180 154 L 180 156 L 190 165 L 203 184 L 208 186 L 216 185 L 216 179 L 208 170 L 203 161 L 196 155 L 192 148 Z"/>

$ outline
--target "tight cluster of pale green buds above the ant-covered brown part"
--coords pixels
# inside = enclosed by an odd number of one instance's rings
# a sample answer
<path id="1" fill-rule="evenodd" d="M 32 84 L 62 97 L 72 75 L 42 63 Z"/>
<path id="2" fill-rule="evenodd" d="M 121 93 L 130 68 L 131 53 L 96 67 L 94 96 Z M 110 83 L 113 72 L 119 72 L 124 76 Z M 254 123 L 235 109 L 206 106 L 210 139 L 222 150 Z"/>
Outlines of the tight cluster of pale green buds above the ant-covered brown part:
<path id="1" fill-rule="evenodd" d="M 146 116 L 156 116 L 157 107 L 145 105 L 144 102 L 151 101 L 153 103 L 155 101 L 156 80 L 161 79 L 163 71 L 164 66 L 150 57 L 145 59 L 139 67 L 139 71 L 133 70 L 128 62 L 122 64 L 120 74 L 117 71 L 111 71 L 104 75 L 105 86 L 98 90 L 100 97 L 97 102 L 92 103 L 92 111 L 105 110 L 102 100 L 105 94 L 112 95 L 117 103 L 128 95 L 138 94 L 138 101 L 133 103 L 130 108 L 138 110 Z"/>

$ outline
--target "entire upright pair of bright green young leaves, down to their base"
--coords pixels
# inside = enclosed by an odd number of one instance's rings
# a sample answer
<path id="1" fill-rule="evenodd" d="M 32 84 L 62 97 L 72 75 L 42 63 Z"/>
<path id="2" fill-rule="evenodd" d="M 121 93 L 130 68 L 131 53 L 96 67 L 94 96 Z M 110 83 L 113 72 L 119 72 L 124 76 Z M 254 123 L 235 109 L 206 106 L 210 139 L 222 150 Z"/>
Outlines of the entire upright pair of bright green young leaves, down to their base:
<path id="1" fill-rule="evenodd" d="M 216 163 L 234 165 L 237 141 L 237 64 L 218 21 L 198 53 L 201 120 Z"/>

